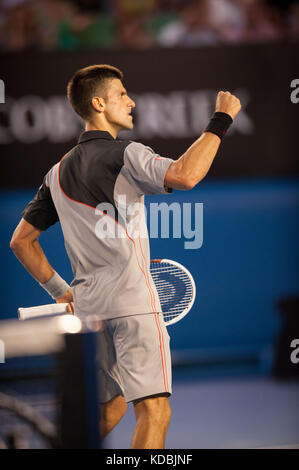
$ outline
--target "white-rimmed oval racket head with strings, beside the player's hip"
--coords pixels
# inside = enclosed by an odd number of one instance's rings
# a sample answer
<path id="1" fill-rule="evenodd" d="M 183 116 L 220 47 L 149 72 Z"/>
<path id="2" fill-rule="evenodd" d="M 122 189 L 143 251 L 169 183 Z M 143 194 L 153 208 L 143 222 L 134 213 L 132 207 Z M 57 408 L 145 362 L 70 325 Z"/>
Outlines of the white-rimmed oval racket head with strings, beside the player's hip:
<path id="1" fill-rule="evenodd" d="M 150 272 L 158 291 L 166 326 L 177 323 L 191 310 L 196 286 L 192 274 L 177 261 L 153 259 Z"/>

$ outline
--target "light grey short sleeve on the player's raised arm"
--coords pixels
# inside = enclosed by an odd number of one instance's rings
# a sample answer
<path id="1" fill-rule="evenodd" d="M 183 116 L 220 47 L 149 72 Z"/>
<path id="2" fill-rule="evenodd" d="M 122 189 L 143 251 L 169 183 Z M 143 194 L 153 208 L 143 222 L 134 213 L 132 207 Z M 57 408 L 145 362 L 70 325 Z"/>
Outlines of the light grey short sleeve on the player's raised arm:
<path id="1" fill-rule="evenodd" d="M 174 160 L 163 158 L 143 144 L 131 142 L 124 153 L 124 173 L 139 194 L 171 193 L 165 174 Z"/>

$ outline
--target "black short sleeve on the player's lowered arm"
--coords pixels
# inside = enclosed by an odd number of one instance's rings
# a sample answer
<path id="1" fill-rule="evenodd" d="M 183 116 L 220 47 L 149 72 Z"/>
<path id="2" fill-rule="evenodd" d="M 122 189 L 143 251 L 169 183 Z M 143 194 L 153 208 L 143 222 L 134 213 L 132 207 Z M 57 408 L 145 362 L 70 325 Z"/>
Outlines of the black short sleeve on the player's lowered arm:
<path id="1" fill-rule="evenodd" d="M 42 231 L 47 230 L 59 221 L 50 188 L 47 186 L 46 181 L 45 177 L 36 195 L 22 212 L 22 216 L 27 222 Z"/>

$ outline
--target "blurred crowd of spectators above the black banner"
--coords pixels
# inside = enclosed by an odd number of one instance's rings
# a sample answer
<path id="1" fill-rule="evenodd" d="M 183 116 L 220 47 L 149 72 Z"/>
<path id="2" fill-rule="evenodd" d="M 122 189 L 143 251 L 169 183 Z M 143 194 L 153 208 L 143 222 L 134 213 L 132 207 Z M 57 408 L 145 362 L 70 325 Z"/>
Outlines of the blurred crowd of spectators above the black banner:
<path id="1" fill-rule="evenodd" d="M 2 0 L 2 51 L 296 41 L 299 0 Z"/>

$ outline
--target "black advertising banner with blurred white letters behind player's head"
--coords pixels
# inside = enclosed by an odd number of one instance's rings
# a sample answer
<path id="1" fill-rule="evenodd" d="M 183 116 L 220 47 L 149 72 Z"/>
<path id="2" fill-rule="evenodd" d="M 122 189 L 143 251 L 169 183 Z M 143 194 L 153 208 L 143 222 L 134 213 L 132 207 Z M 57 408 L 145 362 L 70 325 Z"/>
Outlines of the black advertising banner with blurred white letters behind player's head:
<path id="1" fill-rule="evenodd" d="M 243 109 L 209 178 L 292 176 L 298 171 L 298 44 L 82 52 L 0 57 L 1 186 L 37 186 L 76 143 L 83 122 L 66 100 L 75 70 L 119 67 L 136 102 L 133 131 L 165 157 L 178 158 L 207 125 L 219 90 Z M 0 96 L 1 98 L 1 96 Z"/>

